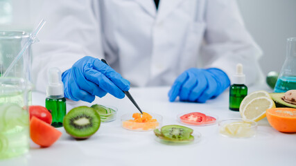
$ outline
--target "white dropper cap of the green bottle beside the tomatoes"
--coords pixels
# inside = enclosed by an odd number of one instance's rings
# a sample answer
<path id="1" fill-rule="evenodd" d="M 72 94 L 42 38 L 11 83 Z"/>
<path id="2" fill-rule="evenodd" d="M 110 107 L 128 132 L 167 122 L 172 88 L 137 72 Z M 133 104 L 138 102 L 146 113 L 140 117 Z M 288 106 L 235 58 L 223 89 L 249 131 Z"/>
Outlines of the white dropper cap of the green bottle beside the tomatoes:
<path id="1" fill-rule="evenodd" d="M 47 84 L 47 98 L 64 98 L 64 84 L 62 83 L 62 73 L 59 68 L 49 68 L 47 73 L 49 84 Z"/>

